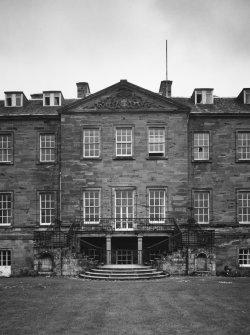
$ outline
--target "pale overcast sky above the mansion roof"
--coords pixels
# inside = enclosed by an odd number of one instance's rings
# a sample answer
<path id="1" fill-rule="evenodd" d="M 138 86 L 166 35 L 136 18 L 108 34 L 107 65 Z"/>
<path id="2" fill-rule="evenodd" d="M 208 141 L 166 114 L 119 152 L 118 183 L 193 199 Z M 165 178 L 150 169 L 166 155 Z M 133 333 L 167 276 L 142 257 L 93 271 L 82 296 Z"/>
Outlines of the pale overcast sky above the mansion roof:
<path id="1" fill-rule="evenodd" d="M 4 91 L 91 93 L 127 79 L 173 96 L 250 87 L 250 0 L 0 0 Z"/>

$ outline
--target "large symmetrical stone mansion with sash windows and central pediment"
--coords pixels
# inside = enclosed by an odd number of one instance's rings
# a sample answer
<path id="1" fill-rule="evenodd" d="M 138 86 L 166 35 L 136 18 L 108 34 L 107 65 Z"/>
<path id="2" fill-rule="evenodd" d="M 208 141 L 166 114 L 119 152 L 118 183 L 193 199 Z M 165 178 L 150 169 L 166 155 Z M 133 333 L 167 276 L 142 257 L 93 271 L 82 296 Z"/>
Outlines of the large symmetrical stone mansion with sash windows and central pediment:
<path id="1" fill-rule="evenodd" d="M 89 259 L 249 274 L 250 89 L 175 98 L 171 84 L 5 92 L 0 275 L 77 274 Z"/>

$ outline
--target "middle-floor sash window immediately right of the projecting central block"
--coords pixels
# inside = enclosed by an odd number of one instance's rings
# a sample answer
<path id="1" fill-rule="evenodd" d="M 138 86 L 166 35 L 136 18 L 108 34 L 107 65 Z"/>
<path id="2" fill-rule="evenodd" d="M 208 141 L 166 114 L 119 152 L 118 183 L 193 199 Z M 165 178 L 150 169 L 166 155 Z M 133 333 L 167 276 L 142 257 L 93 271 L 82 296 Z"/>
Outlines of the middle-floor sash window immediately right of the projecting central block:
<path id="1" fill-rule="evenodd" d="M 210 191 L 193 191 L 194 218 L 198 224 L 209 224 L 210 221 Z"/>

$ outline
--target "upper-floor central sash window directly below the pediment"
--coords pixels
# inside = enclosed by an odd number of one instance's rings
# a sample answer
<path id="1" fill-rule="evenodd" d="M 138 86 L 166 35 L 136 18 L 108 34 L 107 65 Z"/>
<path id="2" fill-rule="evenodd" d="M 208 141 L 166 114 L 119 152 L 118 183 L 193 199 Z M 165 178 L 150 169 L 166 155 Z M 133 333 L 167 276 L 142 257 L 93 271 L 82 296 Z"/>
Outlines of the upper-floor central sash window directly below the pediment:
<path id="1" fill-rule="evenodd" d="M 115 130 L 116 157 L 133 156 L 133 128 L 129 126 L 116 127 Z"/>

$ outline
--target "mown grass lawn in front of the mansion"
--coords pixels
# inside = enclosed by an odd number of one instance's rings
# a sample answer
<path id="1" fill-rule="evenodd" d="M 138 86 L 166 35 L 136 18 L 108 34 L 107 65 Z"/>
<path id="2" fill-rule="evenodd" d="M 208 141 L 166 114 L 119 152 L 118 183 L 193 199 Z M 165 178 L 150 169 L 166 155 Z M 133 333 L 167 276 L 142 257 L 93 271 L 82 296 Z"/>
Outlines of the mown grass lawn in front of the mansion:
<path id="1" fill-rule="evenodd" d="M 0 334 L 250 334 L 250 278 L 0 278 Z"/>

